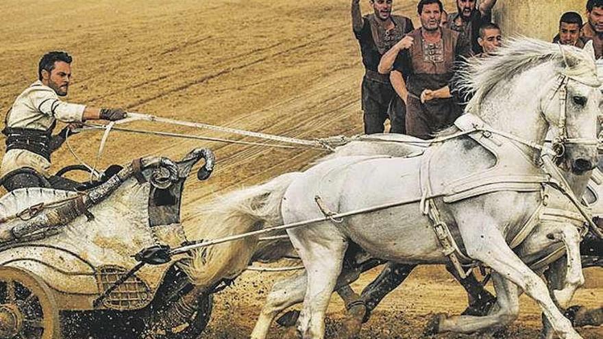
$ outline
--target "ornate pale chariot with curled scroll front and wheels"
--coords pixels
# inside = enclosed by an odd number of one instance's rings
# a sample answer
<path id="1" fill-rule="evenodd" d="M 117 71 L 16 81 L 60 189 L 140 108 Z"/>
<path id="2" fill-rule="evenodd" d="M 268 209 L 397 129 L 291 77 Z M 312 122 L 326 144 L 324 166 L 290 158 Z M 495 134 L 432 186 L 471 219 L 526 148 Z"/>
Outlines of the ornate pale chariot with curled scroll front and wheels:
<path id="1" fill-rule="evenodd" d="M 210 316 L 210 294 L 189 301 L 192 312 L 164 320 L 183 314 L 191 285 L 178 264 L 186 254 L 156 262 L 136 254 L 189 243 L 180 204 L 201 159 L 204 180 L 214 155 L 194 149 L 179 162 L 134 160 L 83 192 L 23 188 L 0 198 L 0 338 L 93 335 L 73 333 L 88 327 L 79 328 L 82 321 L 99 321 L 103 336 L 196 338 Z"/>

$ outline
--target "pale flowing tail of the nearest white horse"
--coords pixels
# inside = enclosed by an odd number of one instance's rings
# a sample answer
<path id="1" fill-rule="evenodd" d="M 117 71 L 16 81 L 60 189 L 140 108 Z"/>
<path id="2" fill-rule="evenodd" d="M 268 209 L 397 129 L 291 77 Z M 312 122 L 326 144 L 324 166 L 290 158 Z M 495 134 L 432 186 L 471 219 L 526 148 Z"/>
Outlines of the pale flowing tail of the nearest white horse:
<path id="1" fill-rule="evenodd" d="M 218 239 L 281 225 L 281 201 L 288 186 L 302 173 L 280 175 L 265 184 L 227 194 L 202 206 L 200 227 L 189 231 L 193 239 Z M 222 279 L 234 279 L 247 268 L 258 246 L 258 236 L 224 242 L 193 251 L 182 268 L 191 282 L 210 288 Z"/>

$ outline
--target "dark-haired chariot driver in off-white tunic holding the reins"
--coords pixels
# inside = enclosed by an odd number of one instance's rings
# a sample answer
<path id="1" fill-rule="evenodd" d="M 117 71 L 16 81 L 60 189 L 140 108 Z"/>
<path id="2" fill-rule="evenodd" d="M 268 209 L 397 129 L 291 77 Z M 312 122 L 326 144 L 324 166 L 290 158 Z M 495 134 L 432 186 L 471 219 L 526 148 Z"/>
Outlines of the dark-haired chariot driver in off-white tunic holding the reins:
<path id="1" fill-rule="evenodd" d="M 50 156 L 66 140 L 71 126 L 53 136 L 57 120 L 82 123 L 125 118 L 125 111 L 120 108 L 99 109 L 60 100 L 67 95 L 71 84 L 71 61 L 71 55 L 64 51 L 42 56 L 38 81 L 16 98 L 6 114 L 2 131 L 6 136 L 6 153 L 0 166 L 0 180 L 8 191 L 44 186 L 44 179 L 62 188 L 62 178 L 49 174 Z"/>

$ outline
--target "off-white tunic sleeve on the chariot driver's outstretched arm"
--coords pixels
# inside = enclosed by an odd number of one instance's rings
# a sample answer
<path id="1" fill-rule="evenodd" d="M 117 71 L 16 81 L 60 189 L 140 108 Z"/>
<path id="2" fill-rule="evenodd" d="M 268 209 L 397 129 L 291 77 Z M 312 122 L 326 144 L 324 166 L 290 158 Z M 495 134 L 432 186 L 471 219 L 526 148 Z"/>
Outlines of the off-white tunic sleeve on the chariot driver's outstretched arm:
<path id="1" fill-rule="evenodd" d="M 58 95 L 51 88 L 40 88 L 30 93 L 29 99 L 38 112 L 54 116 L 64 123 L 82 122 L 86 105 L 66 103 L 60 101 Z"/>

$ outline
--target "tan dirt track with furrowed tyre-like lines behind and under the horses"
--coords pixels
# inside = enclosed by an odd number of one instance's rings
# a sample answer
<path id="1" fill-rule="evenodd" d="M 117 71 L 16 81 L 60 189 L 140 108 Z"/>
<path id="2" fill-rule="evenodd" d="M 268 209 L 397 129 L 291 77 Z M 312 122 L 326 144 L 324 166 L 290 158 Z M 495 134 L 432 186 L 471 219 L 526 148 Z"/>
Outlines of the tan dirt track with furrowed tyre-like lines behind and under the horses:
<path id="1" fill-rule="evenodd" d="M 415 18 L 415 1 L 397 3 L 397 12 Z M 44 5 L 3 0 L 0 8 L 2 112 L 34 81 L 40 55 L 64 49 L 75 57 L 71 101 L 297 138 L 362 131 L 362 65 L 348 0 L 46 0 Z M 136 127 L 201 133 L 164 125 Z M 80 134 L 71 145 L 94 163 L 100 138 L 98 133 Z M 179 158 L 200 145 L 214 149 L 219 163 L 207 183 L 188 182 L 185 216 L 213 194 L 303 169 L 322 154 L 114 133 L 99 167 L 141 155 Z M 66 147 L 53 159 L 56 169 L 76 162 Z M 373 276 L 364 277 L 356 290 Z M 278 277 L 246 273 L 235 288 L 217 295 L 207 337 L 248 336 L 271 281 Z M 580 290 L 576 302 L 601 305 L 602 277 L 589 274 L 590 288 Z M 521 318 L 508 338 L 534 338 L 539 329 L 539 312 L 523 300 Z M 464 294 L 445 273 L 423 268 L 386 299 L 362 338 L 418 338 L 427 314 L 458 313 L 464 306 Z M 334 298 L 330 329 L 341 310 Z M 581 332 L 585 338 L 603 338 L 600 327 Z M 271 338 L 281 335 L 275 328 Z"/>

